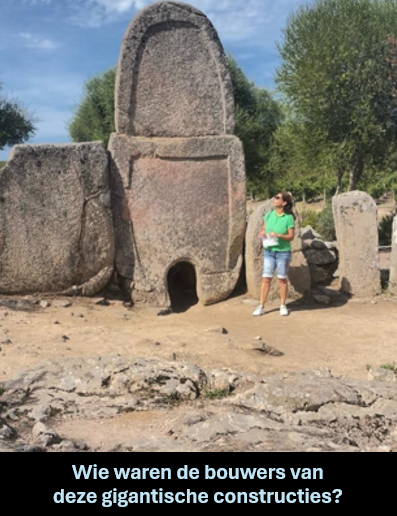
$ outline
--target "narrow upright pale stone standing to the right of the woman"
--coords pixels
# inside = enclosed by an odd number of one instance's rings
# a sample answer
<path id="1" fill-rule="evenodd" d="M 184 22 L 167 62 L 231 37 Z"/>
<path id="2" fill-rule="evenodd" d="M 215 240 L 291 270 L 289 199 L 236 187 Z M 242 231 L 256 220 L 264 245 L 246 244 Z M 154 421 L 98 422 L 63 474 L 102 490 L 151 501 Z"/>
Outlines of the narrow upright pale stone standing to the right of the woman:
<path id="1" fill-rule="evenodd" d="M 334 197 L 332 206 L 339 250 L 341 289 L 356 297 L 380 294 L 375 201 L 368 194 L 357 191 Z"/>

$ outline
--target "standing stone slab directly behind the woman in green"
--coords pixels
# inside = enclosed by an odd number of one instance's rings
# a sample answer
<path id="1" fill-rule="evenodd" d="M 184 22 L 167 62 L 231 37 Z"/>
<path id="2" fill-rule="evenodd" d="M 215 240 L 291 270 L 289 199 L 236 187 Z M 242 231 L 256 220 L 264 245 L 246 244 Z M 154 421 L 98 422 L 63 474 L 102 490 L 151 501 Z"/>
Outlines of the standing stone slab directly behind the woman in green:
<path id="1" fill-rule="evenodd" d="M 265 214 L 273 209 L 273 200 L 270 199 L 259 205 L 252 213 L 247 227 L 245 241 L 245 267 L 248 293 L 255 299 L 260 297 L 260 288 L 263 273 L 263 247 L 258 233 L 263 228 Z M 297 213 L 296 213 L 297 215 Z M 302 251 L 299 217 L 295 220 L 295 238 L 292 242 L 292 259 L 289 269 L 289 297 L 299 298 L 311 289 L 310 270 Z M 269 299 L 278 296 L 277 282 L 273 282 L 269 292 Z"/>

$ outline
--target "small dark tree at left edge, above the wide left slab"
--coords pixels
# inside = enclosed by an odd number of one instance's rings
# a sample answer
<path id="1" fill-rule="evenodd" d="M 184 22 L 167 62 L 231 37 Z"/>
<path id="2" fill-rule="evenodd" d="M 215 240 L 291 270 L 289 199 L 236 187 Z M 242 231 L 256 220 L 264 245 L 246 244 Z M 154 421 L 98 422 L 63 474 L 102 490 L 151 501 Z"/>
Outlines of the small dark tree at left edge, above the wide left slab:
<path id="1" fill-rule="evenodd" d="M 2 95 L 0 83 L 0 150 L 26 142 L 35 130 L 32 116 L 18 102 Z"/>

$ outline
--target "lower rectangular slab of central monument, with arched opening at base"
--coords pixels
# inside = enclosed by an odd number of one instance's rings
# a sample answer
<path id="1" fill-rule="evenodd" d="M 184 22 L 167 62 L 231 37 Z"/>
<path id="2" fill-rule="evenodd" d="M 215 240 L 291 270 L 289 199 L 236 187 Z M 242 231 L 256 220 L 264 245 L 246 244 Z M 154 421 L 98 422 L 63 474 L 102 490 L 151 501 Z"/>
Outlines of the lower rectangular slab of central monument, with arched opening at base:
<path id="1" fill-rule="evenodd" d="M 234 136 L 109 143 L 116 270 L 136 302 L 169 304 L 167 274 L 192 264 L 203 304 L 238 281 L 245 231 L 245 167 Z"/>

